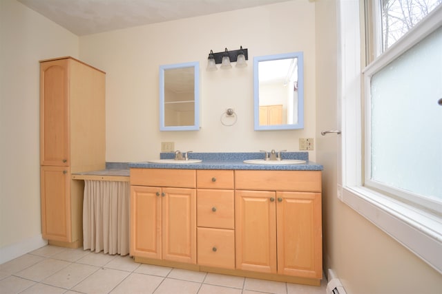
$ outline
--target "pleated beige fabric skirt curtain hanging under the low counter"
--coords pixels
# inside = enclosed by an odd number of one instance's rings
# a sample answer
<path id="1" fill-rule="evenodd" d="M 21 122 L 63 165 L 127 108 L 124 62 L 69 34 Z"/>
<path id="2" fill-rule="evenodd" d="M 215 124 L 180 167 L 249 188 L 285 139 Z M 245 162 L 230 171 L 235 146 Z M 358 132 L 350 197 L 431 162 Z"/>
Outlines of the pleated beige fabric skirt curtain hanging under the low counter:
<path id="1" fill-rule="evenodd" d="M 84 181 L 84 249 L 129 253 L 129 196 L 129 182 Z"/>

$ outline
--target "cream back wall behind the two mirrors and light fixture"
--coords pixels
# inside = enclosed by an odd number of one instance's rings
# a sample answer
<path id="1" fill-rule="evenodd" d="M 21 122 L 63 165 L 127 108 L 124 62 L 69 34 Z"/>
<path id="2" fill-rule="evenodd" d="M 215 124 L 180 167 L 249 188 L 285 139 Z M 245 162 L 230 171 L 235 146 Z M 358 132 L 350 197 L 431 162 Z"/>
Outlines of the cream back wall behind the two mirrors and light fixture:
<path id="1" fill-rule="evenodd" d="M 305 0 L 81 36 L 81 59 L 107 72 L 106 160 L 158 158 L 161 141 L 182 151 L 298 150 L 298 138 L 316 130 L 314 32 L 314 3 Z M 249 50 L 246 68 L 206 72 L 210 50 L 240 45 Z M 305 129 L 253 131 L 253 56 L 298 51 L 305 58 Z M 200 62 L 202 127 L 160 132 L 158 67 L 189 61 Z M 238 122 L 225 127 L 220 116 L 229 107 Z"/>

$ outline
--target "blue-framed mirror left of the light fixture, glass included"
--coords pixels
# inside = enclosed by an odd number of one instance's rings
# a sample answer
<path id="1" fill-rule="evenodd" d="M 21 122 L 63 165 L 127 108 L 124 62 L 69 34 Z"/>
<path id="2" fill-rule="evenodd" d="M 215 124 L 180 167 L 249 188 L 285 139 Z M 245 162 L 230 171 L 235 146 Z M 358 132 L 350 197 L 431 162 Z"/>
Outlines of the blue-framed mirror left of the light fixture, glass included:
<path id="1" fill-rule="evenodd" d="M 200 129 L 200 63 L 160 65 L 160 131 Z"/>

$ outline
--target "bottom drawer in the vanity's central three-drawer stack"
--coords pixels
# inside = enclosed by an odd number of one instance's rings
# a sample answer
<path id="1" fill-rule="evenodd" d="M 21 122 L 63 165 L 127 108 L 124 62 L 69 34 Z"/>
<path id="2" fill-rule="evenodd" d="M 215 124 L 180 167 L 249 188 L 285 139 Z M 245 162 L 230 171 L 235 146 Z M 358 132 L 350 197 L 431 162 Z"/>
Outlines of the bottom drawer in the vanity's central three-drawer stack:
<path id="1" fill-rule="evenodd" d="M 198 228 L 198 264 L 235 269 L 235 231 Z"/>

